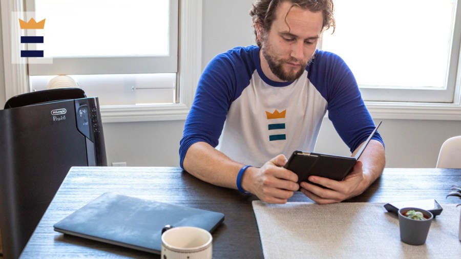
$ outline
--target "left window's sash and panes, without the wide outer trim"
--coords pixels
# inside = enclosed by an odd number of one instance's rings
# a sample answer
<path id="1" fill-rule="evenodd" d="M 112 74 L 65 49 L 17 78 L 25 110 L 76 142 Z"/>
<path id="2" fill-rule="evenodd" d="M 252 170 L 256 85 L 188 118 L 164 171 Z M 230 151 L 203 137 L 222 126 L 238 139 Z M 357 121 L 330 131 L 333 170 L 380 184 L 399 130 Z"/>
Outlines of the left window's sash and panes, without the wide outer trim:
<path id="1" fill-rule="evenodd" d="M 88 96 L 98 96 L 101 105 L 176 102 L 178 1 L 27 3 L 37 19 L 46 18 L 44 30 L 27 30 L 45 39 L 30 47 L 52 58 L 29 63 L 30 91 L 44 90 L 51 78 L 64 74 Z"/>

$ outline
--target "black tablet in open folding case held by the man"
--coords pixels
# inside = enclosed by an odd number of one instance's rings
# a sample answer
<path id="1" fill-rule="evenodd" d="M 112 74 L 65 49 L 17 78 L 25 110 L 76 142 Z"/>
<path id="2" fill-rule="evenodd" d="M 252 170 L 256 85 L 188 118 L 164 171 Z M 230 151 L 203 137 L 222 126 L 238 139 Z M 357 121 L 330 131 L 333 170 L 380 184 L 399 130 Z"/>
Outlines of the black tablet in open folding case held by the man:
<path id="1" fill-rule="evenodd" d="M 362 155 L 363 150 L 370 142 L 381 122 L 376 126 L 367 138 L 361 149 L 354 157 L 334 156 L 321 153 L 306 153 L 300 150 L 293 152 L 285 168 L 298 175 L 298 183 L 308 182 L 309 176 L 321 176 L 336 181 L 342 181 L 352 170 L 355 162 Z"/>

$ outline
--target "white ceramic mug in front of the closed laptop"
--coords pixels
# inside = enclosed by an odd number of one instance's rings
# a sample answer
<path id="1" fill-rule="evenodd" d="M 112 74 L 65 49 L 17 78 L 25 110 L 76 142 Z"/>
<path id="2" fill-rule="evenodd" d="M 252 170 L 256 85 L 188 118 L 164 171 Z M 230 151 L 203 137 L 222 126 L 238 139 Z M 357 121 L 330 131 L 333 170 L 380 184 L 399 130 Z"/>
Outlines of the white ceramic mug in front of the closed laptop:
<path id="1" fill-rule="evenodd" d="M 198 227 L 174 227 L 162 234 L 162 259 L 211 259 L 213 236 Z"/>

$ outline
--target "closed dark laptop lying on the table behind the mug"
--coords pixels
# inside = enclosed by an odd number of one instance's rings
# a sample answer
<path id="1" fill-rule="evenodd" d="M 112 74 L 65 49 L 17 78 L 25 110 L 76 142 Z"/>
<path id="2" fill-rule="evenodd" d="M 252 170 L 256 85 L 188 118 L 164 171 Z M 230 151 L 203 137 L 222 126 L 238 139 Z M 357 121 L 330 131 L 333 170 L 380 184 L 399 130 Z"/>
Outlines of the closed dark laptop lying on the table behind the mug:
<path id="1" fill-rule="evenodd" d="M 160 254 L 165 225 L 213 232 L 224 214 L 169 203 L 104 193 L 56 223 L 55 231 Z"/>

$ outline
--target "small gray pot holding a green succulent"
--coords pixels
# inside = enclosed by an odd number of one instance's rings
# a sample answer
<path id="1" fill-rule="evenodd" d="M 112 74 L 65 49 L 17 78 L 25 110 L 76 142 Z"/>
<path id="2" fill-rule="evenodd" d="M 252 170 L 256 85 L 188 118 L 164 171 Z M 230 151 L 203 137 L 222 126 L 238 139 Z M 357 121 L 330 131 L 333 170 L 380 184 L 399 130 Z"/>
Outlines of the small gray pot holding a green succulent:
<path id="1" fill-rule="evenodd" d="M 407 218 L 404 214 L 409 210 L 421 211 L 426 220 L 413 220 Z M 434 219 L 434 215 L 430 211 L 424 209 L 399 209 L 400 239 L 402 242 L 413 246 L 420 246 L 426 243 L 427 234 L 429 233 L 432 219 Z"/>

